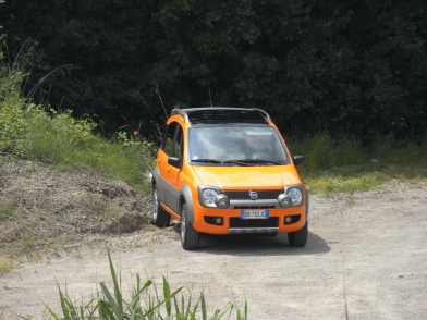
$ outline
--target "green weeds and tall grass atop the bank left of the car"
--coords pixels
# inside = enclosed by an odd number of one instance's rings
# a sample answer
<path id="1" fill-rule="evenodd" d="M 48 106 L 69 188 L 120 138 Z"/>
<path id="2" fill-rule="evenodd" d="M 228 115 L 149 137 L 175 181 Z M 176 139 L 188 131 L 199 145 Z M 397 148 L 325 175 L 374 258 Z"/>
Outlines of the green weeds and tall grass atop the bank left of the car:
<path id="1" fill-rule="evenodd" d="M 72 111 L 58 113 L 50 106 L 36 106 L 21 96 L 25 75 L 0 67 L 0 151 L 19 157 L 84 165 L 120 179 L 149 194 L 147 171 L 154 164 L 154 145 L 133 128 L 113 139 L 94 133 L 89 119 L 75 119 Z"/>

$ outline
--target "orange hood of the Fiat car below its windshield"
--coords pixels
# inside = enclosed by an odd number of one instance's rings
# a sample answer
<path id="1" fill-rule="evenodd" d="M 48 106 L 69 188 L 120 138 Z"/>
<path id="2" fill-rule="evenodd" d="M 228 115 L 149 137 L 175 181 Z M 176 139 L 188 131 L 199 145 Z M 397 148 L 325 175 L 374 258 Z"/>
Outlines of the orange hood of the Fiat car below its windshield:
<path id="1" fill-rule="evenodd" d="M 298 184 L 293 165 L 198 167 L 193 170 L 203 185 L 220 188 L 269 188 Z"/>

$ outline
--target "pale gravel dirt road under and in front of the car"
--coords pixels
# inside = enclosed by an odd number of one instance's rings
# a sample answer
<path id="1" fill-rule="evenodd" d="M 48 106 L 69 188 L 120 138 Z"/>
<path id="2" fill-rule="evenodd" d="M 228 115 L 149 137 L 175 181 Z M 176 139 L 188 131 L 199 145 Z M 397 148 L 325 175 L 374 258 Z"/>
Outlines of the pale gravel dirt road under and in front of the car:
<path id="1" fill-rule="evenodd" d="M 205 235 L 199 250 L 184 251 L 178 225 L 110 245 L 124 292 L 135 273 L 159 284 L 164 275 L 172 288 L 204 291 L 210 310 L 246 298 L 249 319 L 426 319 L 426 214 L 427 184 L 406 183 L 312 196 L 305 248 L 290 247 L 283 235 Z M 42 319 L 41 300 L 58 309 L 57 281 L 84 301 L 98 282 L 111 287 L 105 246 L 77 246 L 0 278 L 0 319 Z"/>

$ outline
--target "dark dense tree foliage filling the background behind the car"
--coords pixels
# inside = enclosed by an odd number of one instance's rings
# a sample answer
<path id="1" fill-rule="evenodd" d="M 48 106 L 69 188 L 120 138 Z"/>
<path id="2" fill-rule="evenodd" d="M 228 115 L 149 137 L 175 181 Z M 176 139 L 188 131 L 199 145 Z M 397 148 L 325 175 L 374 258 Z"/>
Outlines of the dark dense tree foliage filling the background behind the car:
<path id="1" fill-rule="evenodd" d="M 0 8 L 10 61 L 32 67 L 27 95 L 97 114 L 106 133 L 141 123 L 151 134 L 163 102 L 168 111 L 259 107 L 286 135 L 426 134 L 426 1 L 8 0 Z"/>

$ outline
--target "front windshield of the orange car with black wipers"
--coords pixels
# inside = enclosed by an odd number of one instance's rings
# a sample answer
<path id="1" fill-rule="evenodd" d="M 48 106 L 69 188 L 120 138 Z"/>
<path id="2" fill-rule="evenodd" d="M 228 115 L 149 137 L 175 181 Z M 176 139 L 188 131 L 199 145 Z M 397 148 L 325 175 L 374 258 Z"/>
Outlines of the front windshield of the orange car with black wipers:
<path id="1" fill-rule="evenodd" d="M 188 131 L 190 161 L 222 165 L 288 164 L 289 158 L 271 126 L 204 126 Z"/>

